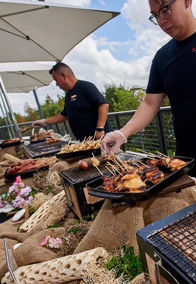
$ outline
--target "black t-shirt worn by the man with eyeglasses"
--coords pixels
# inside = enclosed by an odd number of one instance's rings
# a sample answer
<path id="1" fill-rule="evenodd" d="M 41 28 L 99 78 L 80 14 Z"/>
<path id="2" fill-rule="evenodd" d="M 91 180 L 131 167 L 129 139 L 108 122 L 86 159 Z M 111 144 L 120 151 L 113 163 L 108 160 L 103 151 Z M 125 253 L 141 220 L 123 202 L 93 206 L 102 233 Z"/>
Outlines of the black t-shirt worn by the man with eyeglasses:
<path id="1" fill-rule="evenodd" d="M 176 155 L 196 158 L 196 33 L 172 39 L 152 61 L 147 93 L 166 93 L 171 103 Z"/>

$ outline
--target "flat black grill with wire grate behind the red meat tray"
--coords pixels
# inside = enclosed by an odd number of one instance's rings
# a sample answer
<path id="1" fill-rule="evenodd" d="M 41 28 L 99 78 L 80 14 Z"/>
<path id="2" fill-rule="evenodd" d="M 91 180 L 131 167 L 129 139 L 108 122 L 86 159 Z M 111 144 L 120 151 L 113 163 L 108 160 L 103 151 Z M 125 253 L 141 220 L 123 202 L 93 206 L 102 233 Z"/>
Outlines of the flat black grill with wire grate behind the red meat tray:
<path id="1" fill-rule="evenodd" d="M 68 141 L 63 140 L 51 143 L 46 143 L 44 141 L 35 144 L 28 144 L 24 147 L 24 150 L 27 153 L 27 156 L 32 159 L 50 157 L 58 153 L 61 150 L 61 147 L 67 143 Z"/>

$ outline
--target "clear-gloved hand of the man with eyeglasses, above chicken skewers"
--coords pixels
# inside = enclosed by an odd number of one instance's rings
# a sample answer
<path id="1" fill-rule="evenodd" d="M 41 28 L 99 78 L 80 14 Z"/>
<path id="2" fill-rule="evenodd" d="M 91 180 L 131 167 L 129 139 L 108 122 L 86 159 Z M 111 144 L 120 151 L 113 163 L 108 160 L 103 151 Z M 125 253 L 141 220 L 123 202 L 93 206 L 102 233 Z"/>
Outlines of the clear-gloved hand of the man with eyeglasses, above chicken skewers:
<path id="1" fill-rule="evenodd" d="M 111 153 L 115 154 L 119 150 L 120 146 L 126 142 L 127 139 L 123 133 L 119 130 L 115 130 L 105 135 L 101 141 L 101 150 L 103 150 L 107 155 Z M 110 148 L 111 144 L 114 144 L 112 148 Z M 104 155 L 103 152 L 101 152 L 101 154 Z"/>

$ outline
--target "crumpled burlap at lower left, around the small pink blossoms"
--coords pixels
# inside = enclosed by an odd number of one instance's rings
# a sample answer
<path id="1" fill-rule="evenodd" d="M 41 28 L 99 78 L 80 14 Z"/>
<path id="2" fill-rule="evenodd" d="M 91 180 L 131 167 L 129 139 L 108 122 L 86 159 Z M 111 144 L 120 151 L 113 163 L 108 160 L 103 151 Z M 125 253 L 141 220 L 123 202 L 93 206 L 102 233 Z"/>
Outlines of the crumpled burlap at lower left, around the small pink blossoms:
<path id="1" fill-rule="evenodd" d="M 42 247 L 39 243 L 48 235 L 52 237 L 62 237 L 64 228 L 43 229 L 44 224 L 42 224 L 27 233 L 20 233 L 17 232 L 17 227 L 21 225 L 22 221 L 12 222 L 8 220 L 0 224 L 0 280 L 8 271 L 3 245 L 4 237 L 7 238 L 10 248 L 12 248 L 14 244 L 22 242 L 22 244 L 13 251 L 14 258 L 19 267 L 59 257 L 55 250 Z"/>

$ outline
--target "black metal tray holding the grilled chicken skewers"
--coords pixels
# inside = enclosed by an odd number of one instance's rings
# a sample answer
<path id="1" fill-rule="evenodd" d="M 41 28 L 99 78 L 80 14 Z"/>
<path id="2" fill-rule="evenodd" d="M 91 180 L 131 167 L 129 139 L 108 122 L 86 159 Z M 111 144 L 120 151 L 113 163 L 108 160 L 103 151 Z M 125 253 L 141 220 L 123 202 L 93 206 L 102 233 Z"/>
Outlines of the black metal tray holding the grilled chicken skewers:
<path id="1" fill-rule="evenodd" d="M 164 180 L 158 182 L 156 185 L 151 186 L 149 189 L 141 192 L 131 192 L 131 193 L 123 193 L 123 192 L 110 192 L 101 189 L 101 185 L 103 183 L 102 177 L 89 182 L 86 184 L 87 189 L 89 189 L 89 194 L 106 199 L 125 201 L 125 202 L 135 202 L 135 201 L 146 201 L 147 199 L 157 195 L 161 190 L 165 189 L 167 186 L 172 184 L 174 181 L 179 179 L 189 170 L 191 170 L 194 166 L 194 159 L 179 157 L 179 156 L 171 156 L 173 158 L 178 158 L 184 162 L 189 162 L 187 165 L 181 167 L 175 172 L 171 173 L 169 176 L 164 178 Z M 108 174 L 109 175 L 109 174 Z"/>

